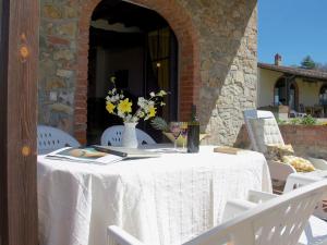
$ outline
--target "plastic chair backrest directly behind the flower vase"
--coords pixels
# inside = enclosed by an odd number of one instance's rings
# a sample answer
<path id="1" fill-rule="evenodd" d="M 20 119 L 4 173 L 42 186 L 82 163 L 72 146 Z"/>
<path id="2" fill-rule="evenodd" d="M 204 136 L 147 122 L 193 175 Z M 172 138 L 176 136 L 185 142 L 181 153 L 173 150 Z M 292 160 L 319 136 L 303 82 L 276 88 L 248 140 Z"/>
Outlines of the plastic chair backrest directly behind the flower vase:
<path id="1" fill-rule="evenodd" d="M 121 146 L 124 126 L 116 125 L 108 127 L 101 135 L 102 146 Z M 140 145 L 156 144 L 156 142 L 144 131 L 136 128 L 136 137 Z"/>

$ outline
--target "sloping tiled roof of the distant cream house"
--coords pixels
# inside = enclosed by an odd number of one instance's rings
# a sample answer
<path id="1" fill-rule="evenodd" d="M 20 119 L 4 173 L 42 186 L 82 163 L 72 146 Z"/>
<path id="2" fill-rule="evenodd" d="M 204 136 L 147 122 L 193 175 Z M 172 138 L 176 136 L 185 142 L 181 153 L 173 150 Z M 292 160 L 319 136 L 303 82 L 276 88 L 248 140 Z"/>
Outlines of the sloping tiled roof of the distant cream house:
<path id="1" fill-rule="evenodd" d="M 291 74 L 295 76 L 301 76 L 308 79 L 320 79 L 327 81 L 327 72 L 316 71 L 316 70 L 307 70 L 300 68 L 291 68 L 291 66 L 282 66 L 267 63 L 257 63 L 257 66 L 261 69 L 267 69 L 276 72 L 282 72 L 286 74 Z"/>

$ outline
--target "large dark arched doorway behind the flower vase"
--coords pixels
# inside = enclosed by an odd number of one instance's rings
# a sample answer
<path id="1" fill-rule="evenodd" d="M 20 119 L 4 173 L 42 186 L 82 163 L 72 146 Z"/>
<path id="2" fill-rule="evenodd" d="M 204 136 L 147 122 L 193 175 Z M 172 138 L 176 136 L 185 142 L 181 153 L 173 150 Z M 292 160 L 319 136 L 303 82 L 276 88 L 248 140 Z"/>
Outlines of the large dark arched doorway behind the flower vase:
<path id="1" fill-rule="evenodd" d="M 170 91 L 159 115 L 178 117 L 178 41 L 167 21 L 153 10 L 124 1 L 102 0 L 94 10 L 89 28 L 87 143 L 97 144 L 101 133 L 121 120 L 108 114 L 105 97 L 117 87 L 137 103 L 158 89 Z M 161 134 L 148 123 L 138 127 L 157 140 Z"/>

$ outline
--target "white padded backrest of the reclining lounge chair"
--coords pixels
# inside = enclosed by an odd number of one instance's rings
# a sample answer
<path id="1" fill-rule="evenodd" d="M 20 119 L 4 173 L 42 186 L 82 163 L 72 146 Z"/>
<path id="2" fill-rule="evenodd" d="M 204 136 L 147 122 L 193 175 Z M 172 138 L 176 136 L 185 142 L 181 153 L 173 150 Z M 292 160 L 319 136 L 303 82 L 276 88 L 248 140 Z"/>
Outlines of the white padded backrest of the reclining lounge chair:
<path id="1" fill-rule="evenodd" d="M 267 144 L 284 145 L 278 124 L 271 111 L 245 110 L 243 111 L 245 126 L 252 148 L 265 152 Z M 257 125 L 253 125 L 256 122 Z"/>

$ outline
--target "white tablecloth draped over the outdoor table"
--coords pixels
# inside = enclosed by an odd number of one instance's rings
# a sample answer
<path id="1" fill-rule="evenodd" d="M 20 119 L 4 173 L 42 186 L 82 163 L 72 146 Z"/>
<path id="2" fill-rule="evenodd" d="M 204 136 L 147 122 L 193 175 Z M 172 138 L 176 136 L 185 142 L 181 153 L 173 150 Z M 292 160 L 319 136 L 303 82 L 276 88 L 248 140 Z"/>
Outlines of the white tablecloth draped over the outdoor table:
<path id="1" fill-rule="evenodd" d="M 109 166 L 38 157 L 41 245 L 105 245 L 117 224 L 150 245 L 181 244 L 214 225 L 226 200 L 271 192 L 263 155 L 166 154 Z"/>

